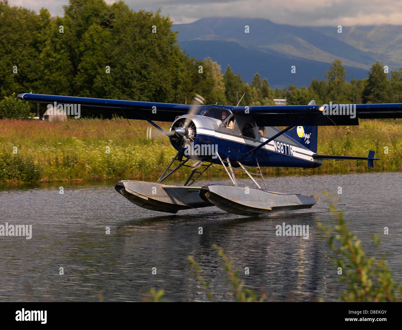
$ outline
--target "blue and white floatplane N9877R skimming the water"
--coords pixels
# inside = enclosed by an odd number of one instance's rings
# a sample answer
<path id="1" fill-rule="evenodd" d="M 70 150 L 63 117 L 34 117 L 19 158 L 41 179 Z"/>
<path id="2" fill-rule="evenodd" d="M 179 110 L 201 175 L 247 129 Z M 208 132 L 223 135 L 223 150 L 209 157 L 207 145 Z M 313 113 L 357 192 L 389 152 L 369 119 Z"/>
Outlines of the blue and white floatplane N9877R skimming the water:
<path id="1" fill-rule="evenodd" d="M 166 135 L 176 149 L 156 182 L 119 181 L 115 189 L 132 203 L 160 212 L 217 206 L 233 214 L 255 216 L 273 210 L 311 208 L 319 194 L 310 196 L 271 191 L 262 167 L 316 168 L 326 159 L 367 160 L 367 157 L 317 153 L 318 126 L 359 125 L 359 118 L 402 118 L 402 104 L 324 104 L 312 100 L 302 106 L 204 105 L 106 100 L 24 93 L 21 100 L 54 107 L 79 104 L 81 108 L 121 110 L 127 119 L 142 119 Z M 154 121 L 172 122 L 164 131 Z M 278 129 L 277 127 L 286 127 Z M 151 132 L 149 132 L 151 133 Z M 197 152 L 196 152 L 197 150 Z M 231 184 L 196 185 L 213 164 L 223 166 Z M 165 184 L 174 172 L 190 168 L 183 185 Z M 248 175 L 255 187 L 242 187 L 235 170 Z"/>

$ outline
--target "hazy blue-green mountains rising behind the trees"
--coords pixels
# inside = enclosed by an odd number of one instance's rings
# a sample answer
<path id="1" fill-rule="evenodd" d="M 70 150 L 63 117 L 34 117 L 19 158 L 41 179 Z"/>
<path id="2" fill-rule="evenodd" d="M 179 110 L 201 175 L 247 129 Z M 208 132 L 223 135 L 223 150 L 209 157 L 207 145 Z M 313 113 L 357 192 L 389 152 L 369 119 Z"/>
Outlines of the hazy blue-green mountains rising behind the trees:
<path id="1" fill-rule="evenodd" d="M 245 33 L 248 26 L 249 33 Z M 251 82 L 254 73 L 267 77 L 271 88 L 310 85 L 323 79 L 330 63 L 342 61 L 347 80 L 368 76 L 377 60 L 389 71 L 402 67 L 402 26 L 368 25 L 299 27 L 268 19 L 203 18 L 174 24 L 180 47 L 197 59 L 210 57 Z M 295 66 L 295 73 L 291 67 Z"/>

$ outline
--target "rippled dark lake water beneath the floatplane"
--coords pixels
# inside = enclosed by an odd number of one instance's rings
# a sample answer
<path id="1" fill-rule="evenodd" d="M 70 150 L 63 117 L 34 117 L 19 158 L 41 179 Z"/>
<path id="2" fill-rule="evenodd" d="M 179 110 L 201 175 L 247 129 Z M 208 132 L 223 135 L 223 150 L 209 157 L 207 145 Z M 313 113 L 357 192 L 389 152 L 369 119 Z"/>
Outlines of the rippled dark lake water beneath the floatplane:
<path id="1" fill-rule="evenodd" d="M 381 252 L 402 282 L 401 172 L 281 176 L 267 183 L 270 190 L 304 195 L 342 187 L 338 208 L 346 210 L 365 252 L 375 254 L 373 234 L 380 235 Z M 189 255 L 211 281 L 214 299 L 233 301 L 213 243 L 227 251 L 246 286 L 268 301 L 334 301 L 344 288 L 319 237 L 316 221 L 331 216 L 322 200 L 308 210 L 253 218 L 215 207 L 171 215 L 139 208 L 114 184 L 0 188 L 0 225 L 32 225 L 29 240 L 0 236 L 0 301 L 142 301 L 151 288 L 164 289 L 166 301 L 207 301 Z M 276 236 L 283 222 L 309 225 L 309 239 Z"/>

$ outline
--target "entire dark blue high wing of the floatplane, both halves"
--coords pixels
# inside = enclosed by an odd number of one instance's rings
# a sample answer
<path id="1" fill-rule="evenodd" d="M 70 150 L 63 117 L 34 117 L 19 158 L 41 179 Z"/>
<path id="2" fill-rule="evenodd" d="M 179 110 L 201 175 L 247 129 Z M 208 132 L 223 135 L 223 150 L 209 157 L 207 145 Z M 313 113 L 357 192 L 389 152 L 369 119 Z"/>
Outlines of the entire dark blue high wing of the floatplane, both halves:
<path id="1" fill-rule="evenodd" d="M 187 114 L 191 104 L 156 103 L 125 100 L 107 100 L 96 98 L 80 98 L 74 96 L 42 95 L 25 93 L 18 95 L 21 100 L 47 104 L 80 104 L 82 108 L 109 108 L 110 110 L 125 110 L 130 119 L 144 119 L 173 122 L 176 116 Z M 342 104 L 339 106 L 343 106 Z M 324 114 L 322 105 L 307 106 L 221 106 L 210 107 L 228 109 L 236 114 L 252 116 L 258 126 L 289 126 L 298 120 L 304 126 L 359 125 L 358 118 L 402 118 L 402 103 L 385 104 L 355 104 L 354 115 Z M 152 110 L 156 110 L 153 112 Z M 349 112 L 351 113 L 351 112 Z M 306 118 L 307 117 L 307 118 Z M 354 117 L 354 118 L 353 118 Z"/>

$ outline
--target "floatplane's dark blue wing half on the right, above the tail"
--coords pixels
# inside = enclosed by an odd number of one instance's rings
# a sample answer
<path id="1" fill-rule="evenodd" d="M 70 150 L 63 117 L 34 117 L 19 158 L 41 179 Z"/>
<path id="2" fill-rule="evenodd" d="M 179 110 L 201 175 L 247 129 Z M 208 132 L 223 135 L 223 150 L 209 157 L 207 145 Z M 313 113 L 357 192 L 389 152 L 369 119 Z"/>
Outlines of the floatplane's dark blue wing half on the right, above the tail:
<path id="1" fill-rule="evenodd" d="M 340 106 L 343 105 L 339 105 L 339 108 Z M 325 115 L 323 108 L 322 105 L 314 104 L 308 106 L 250 106 L 248 109 L 244 106 L 236 106 L 231 110 L 234 114 L 252 116 L 257 126 L 289 126 L 307 116 L 308 118 L 299 125 L 359 125 L 358 118 L 402 118 L 402 103 L 355 104 L 353 110 L 355 118 L 351 118 L 353 116 L 350 114 Z"/>

